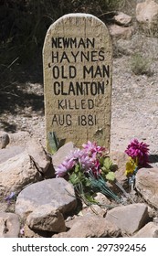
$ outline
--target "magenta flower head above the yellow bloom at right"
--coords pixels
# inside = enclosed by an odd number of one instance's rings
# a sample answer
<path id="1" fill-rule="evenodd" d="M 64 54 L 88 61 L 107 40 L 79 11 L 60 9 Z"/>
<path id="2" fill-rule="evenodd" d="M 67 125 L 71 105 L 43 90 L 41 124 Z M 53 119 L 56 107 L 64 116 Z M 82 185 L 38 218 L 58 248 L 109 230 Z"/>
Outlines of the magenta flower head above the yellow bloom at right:
<path id="1" fill-rule="evenodd" d="M 147 165 L 149 163 L 149 145 L 140 143 L 137 139 L 133 139 L 131 144 L 127 146 L 125 153 L 133 159 L 137 158 L 138 164 Z"/>

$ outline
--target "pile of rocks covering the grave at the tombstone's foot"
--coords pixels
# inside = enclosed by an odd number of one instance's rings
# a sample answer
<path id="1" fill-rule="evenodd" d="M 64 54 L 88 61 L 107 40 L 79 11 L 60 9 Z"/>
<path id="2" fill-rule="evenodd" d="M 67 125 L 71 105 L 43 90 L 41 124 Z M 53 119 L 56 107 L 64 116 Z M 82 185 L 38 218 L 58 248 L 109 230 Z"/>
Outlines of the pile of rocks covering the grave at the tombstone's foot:
<path id="1" fill-rule="evenodd" d="M 10 134 L 10 144 L 0 150 L 0 237 L 158 237 L 158 169 L 139 170 L 132 202 L 116 204 L 98 193 L 96 199 L 107 207 L 80 206 L 71 184 L 55 178 L 54 172 L 74 145 L 47 155 L 29 135 L 20 144 L 20 136 L 15 133 L 14 144 Z M 111 159 L 124 186 L 126 155 L 111 153 Z M 16 195 L 13 201 L 11 193 Z"/>

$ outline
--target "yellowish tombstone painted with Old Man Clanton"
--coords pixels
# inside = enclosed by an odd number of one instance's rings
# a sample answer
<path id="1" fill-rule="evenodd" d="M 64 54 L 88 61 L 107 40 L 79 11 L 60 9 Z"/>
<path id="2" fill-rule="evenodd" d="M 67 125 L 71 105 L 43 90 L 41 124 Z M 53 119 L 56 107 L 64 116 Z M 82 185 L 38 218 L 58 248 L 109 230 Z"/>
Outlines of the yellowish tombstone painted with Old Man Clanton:
<path id="1" fill-rule="evenodd" d="M 47 151 L 72 141 L 110 149 L 111 37 L 99 18 L 60 17 L 43 48 Z"/>

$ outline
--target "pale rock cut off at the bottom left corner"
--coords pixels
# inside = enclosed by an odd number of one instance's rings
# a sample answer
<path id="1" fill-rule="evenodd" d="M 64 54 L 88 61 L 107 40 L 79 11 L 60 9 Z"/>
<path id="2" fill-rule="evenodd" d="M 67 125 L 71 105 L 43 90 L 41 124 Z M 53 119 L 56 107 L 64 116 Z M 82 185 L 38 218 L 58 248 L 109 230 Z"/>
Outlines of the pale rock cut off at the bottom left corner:
<path id="1" fill-rule="evenodd" d="M 20 222 L 14 213 L 0 212 L 0 238 L 18 238 Z"/>

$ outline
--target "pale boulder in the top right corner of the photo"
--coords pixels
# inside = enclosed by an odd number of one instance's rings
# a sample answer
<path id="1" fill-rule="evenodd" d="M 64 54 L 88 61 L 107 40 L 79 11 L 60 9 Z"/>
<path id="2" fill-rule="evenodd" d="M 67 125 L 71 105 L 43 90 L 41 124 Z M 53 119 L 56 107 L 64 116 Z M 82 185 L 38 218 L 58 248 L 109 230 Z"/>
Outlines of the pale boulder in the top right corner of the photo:
<path id="1" fill-rule="evenodd" d="M 149 33 L 158 32 L 158 4 L 153 0 L 136 5 L 136 19 L 142 30 Z"/>

